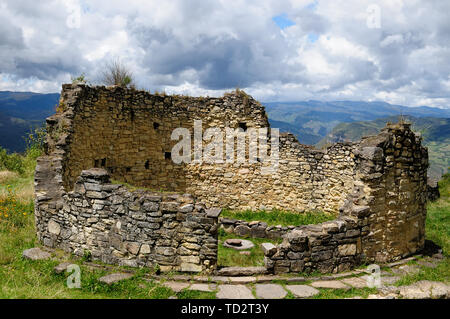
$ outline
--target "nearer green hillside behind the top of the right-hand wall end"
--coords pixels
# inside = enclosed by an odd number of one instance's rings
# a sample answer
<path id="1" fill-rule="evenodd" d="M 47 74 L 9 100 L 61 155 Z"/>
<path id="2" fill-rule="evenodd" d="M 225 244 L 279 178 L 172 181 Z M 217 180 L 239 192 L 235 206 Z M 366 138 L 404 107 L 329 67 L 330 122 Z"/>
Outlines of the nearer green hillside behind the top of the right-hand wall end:
<path id="1" fill-rule="evenodd" d="M 412 123 L 413 131 L 421 133 L 430 158 L 428 176 L 439 180 L 450 167 L 450 118 L 404 116 L 404 119 Z M 374 121 L 341 123 L 322 139 L 318 146 L 340 141 L 357 141 L 363 136 L 377 134 L 387 122 L 397 121 L 398 116 L 391 116 Z"/>

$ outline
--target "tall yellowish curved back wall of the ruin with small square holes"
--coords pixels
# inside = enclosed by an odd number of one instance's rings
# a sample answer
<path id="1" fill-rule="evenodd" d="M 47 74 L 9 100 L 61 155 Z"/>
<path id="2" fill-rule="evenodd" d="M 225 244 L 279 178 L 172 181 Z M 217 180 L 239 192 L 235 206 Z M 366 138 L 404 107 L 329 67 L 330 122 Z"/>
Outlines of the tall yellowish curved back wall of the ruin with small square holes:
<path id="1" fill-rule="evenodd" d="M 353 187 L 350 145 L 319 151 L 292 134 L 280 137 L 280 165 L 273 176 L 261 174 L 261 163 L 176 165 L 166 158 L 178 142 L 171 140 L 172 131 L 183 127 L 193 134 L 194 120 L 202 120 L 203 130 L 269 127 L 264 107 L 243 92 L 192 98 L 65 85 L 61 108 L 64 112 L 50 119 L 49 130 L 50 145 L 61 139 L 65 144 L 66 189 L 83 169 L 102 167 L 113 180 L 187 192 L 208 206 L 336 213 Z"/>

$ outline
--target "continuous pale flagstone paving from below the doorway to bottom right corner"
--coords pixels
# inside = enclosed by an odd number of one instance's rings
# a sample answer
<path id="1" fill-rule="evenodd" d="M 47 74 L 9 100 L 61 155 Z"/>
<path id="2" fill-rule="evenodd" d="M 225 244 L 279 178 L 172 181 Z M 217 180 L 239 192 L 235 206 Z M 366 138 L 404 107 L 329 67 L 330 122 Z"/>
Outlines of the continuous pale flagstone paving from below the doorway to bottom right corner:
<path id="1" fill-rule="evenodd" d="M 410 286 L 393 286 L 403 276 L 416 274 L 420 270 L 418 265 L 405 265 L 410 260 L 412 259 L 396 262 L 390 271 L 382 271 L 381 287 L 377 289 L 377 294 L 369 295 L 368 299 L 450 298 L 450 285 L 441 282 L 420 281 Z M 436 267 L 437 261 L 427 258 L 418 264 L 422 267 Z M 175 292 L 189 289 L 216 293 L 219 299 L 283 299 L 289 293 L 295 298 L 312 298 L 320 294 L 320 289 L 362 289 L 368 287 L 370 278 L 368 274 L 364 274 L 365 270 L 309 278 L 260 274 L 263 270 L 261 267 L 228 267 L 219 271 L 221 276 L 177 276 L 179 280 L 192 282 L 166 281 L 162 284 Z M 196 283 L 206 280 L 205 278 L 214 284 Z M 273 281 L 283 281 L 285 284 L 273 283 Z M 362 297 L 356 296 L 351 299 L 362 299 Z"/>

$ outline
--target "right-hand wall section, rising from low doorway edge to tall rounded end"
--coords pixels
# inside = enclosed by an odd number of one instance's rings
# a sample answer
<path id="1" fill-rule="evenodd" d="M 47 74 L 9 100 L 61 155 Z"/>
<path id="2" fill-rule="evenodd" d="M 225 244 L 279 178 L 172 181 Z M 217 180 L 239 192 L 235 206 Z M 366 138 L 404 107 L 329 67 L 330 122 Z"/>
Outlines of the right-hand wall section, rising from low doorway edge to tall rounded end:
<path id="1" fill-rule="evenodd" d="M 302 226 L 266 251 L 275 273 L 337 272 L 424 247 L 427 150 L 409 124 L 388 124 L 354 145 L 354 189 L 337 220 Z"/>

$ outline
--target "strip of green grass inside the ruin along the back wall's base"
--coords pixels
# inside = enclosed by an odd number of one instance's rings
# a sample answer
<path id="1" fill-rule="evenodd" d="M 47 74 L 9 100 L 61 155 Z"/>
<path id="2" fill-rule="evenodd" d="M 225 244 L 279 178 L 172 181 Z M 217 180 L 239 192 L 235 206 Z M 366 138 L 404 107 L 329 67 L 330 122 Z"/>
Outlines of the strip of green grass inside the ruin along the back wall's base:
<path id="1" fill-rule="evenodd" d="M 240 219 L 245 221 L 262 221 L 270 226 L 300 226 L 310 224 L 320 224 L 329 220 L 336 219 L 336 216 L 323 212 L 306 212 L 306 213 L 292 213 L 281 210 L 273 211 L 257 211 L 250 210 L 243 212 L 233 212 L 230 210 L 223 210 L 222 217 Z"/>

